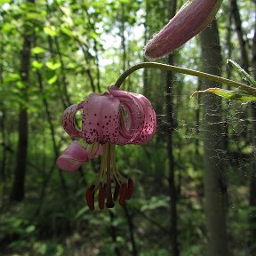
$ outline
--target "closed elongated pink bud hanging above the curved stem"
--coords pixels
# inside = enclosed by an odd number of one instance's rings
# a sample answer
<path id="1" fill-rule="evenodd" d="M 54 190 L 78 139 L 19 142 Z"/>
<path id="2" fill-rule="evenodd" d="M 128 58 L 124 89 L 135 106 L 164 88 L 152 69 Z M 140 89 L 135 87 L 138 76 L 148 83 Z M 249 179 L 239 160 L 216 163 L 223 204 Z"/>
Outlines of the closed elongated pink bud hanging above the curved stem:
<path id="1" fill-rule="evenodd" d="M 179 12 L 145 46 L 148 58 L 160 58 L 207 28 L 223 0 L 188 0 Z"/>

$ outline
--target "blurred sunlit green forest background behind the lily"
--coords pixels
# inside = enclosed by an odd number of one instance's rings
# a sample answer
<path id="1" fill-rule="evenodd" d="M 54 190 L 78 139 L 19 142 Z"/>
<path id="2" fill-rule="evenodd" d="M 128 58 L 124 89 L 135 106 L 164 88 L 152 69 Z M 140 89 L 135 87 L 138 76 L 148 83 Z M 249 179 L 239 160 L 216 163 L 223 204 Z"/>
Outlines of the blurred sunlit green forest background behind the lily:
<path id="1" fill-rule="evenodd" d="M 143 46 L 184 2 L 0 1 L 0 255 L 256 255 L 255 106 L 190 98 L 221 84 L 157 69 L 124 82 L 157 115 L 154 140 L 116 150 L 136 184 L 124 207 L 85 204 L 99 159 L 79 172 L 55 164 L 72 141 L 64 109 L 145 61 Z M 255 10 L 224 1 L 209 28 L 158 61 L 241 81 L 232 59 L 256 77 Z"/>

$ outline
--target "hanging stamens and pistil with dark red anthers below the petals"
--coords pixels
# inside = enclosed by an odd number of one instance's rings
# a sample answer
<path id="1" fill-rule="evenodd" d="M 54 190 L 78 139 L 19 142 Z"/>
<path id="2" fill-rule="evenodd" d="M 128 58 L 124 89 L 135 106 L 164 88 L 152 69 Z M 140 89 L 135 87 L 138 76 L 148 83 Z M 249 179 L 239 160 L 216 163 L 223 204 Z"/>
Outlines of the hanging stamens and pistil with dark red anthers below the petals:
<path id="1" fill-rule="evenodd" d="M 105 205 L 108 208 L 113 208 L 115 206 L 114 202 L 118 200 L 118 198 L 119 204 L 124 205 L 125 201 L 132 197 L 134 191 L 133 180 L 126 180 L 120 172 L 117 171 L 115 144 L 106 143 L 103 145 L 99 180 L 95 185 L 92 185 L 86 190 L 86 202 L 92 211 L 94 210 L 94 195 L 96 191 L 99 191 L 98 203 L 100 210 L 102 210 Z"/>

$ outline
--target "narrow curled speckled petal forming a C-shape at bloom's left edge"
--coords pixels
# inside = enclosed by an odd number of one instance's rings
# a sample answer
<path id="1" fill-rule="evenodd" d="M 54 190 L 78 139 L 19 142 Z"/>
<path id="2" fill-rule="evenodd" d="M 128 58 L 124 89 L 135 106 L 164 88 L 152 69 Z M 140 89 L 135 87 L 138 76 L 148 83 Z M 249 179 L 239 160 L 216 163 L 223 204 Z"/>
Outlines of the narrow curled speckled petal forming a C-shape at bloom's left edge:
<path id="1" fill-rule="evenodd" d="M 75 124 L 76 112 L 81 108 L 84 108 L 84 101 L 80 102 L 79 104 L 71 105 L 64 111 L 62 124 L 63 124 L 64 130 L 71 137 L 75 137 L 75 138 L 82 137 L 81 131 L 76 129 L 76 124 Z"/>

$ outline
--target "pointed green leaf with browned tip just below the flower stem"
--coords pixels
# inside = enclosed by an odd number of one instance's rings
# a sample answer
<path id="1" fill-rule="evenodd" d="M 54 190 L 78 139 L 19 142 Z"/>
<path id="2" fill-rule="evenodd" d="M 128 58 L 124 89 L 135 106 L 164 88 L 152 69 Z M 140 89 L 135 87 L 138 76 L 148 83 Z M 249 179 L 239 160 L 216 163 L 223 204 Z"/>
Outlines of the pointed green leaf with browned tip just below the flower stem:
<path id="1" fill-rule="evenodd" d="M 239 100 L 243 102 L 256 101 L 256 95 L 238 91 L 228 91 L 220 88 L 209 88 L 204 91 L 196 91 L 193 93 L 192 96 L 201 92 L 212 92 L 213 94 L 219 95 L 220 97 L 223 97 L 228 100 Z"/>

